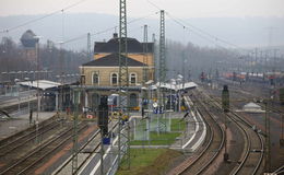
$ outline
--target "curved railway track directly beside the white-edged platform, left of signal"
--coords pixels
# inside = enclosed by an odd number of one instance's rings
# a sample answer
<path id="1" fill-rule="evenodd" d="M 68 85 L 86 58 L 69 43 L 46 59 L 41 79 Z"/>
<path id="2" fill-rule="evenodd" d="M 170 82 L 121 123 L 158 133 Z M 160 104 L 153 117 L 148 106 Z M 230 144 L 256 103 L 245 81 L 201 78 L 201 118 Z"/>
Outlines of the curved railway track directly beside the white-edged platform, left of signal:
<path id="1" fill-rule="evenodd" d="M 203 143 L 203 149 L 193 158 L 189 158 L 182 164 L 177 166 L 169 174 L 202 174 L 208 167 L 214 162 L 214 160 L 220 155 L 225 143 L 225 132 L 220 124 L 214 119 L 209 109 L 201 103 L 198 98 L 194 98 L 198 102 L 198 110 L 203 116 L 208 135 L 206 141 Z"/>

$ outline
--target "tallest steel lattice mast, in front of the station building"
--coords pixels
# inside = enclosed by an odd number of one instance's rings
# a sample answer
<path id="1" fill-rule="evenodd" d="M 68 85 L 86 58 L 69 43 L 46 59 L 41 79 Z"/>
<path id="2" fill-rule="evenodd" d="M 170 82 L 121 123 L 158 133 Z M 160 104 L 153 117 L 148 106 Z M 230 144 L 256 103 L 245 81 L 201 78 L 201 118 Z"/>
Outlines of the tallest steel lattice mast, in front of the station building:
<path id="1" fill-rule="evenodd" d="M 130 168 L 130 128 L 129 122 L 122 125 L 122 115 L 129 117 L 129 75 L 127 51 L 127 2 L 119 1 L 119 125 L 118 125 L 118 165 L 125 156 Z M 126 106 L 127 105 L 127 106 Z M 126 128 L 127 133 L 123 132 Z"/>

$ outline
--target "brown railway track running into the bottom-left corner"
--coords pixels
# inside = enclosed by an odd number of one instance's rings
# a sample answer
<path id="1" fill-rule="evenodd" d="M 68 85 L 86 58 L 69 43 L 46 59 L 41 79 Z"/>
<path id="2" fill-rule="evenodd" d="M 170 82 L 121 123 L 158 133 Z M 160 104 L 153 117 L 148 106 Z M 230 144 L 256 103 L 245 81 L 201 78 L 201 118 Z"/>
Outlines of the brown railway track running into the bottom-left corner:
<path id="1" fill-rule="evenodd" d="M 82 131 L 87 127 L 87 124 L 80 124 L 79 131 Z M 72 138 L 72 128 L 59 133 L 57 137 L 49 139 L 46 142 L 39 144 L 36 149 L 28 152 L 25 156 L 17 161 L 10 163 L 0 170 L 0 174 L 28 174 L 37 164 L 49 155 L 52 155 L 55 151 L 68 143 Z"/>

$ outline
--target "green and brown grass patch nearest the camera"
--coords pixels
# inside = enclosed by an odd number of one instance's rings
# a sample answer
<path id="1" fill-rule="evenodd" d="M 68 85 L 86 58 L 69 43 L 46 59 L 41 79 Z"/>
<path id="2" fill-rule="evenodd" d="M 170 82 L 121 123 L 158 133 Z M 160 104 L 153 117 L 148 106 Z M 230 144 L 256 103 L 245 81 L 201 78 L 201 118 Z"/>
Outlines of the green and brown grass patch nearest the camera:
<path id="1" fill-rule="evenodd" d="M 123 162 L 116 175 L 159 175 L 165 174 L 171 161 L 181 153 L 169 149 L 130 149 L 130 170 Z"/>

